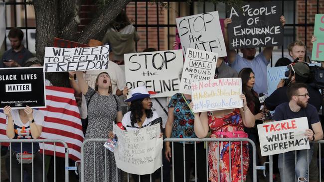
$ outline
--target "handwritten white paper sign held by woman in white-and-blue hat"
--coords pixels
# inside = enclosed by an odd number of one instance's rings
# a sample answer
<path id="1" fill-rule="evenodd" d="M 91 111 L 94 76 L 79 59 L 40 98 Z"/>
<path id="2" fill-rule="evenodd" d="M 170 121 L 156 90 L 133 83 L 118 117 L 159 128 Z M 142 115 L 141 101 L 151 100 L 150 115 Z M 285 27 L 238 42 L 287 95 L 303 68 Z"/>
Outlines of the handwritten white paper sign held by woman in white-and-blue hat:
<path id="1" fill-rule="evenodd" d="M 114 155 L 119 169 L 131 174 L 147 175 L 161 168 L 163 139 L 159 138 L 160 124 L 132 131 L 114 125 L 113 131 L 118 137 Z"/>

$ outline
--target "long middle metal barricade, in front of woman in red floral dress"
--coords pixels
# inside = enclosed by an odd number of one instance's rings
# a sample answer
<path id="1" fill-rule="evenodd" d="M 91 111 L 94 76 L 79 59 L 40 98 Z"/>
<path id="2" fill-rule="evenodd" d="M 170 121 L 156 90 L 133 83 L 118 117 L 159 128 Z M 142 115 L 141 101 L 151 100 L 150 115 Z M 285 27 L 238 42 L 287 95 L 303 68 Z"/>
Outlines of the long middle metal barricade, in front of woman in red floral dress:
<path id="1" fill-rule="evenodd" d="M 85 140 L 83 143 L 82 143 L 82 146 L 81 146 L 81 175 L 80 175 L 80 178 L 81 178 L 81 182 L 84 182 L 85 181 L 85 177 L 84 177 L 84 171 L 85 171 L 85 164 L 84 164 L 84 159 L 85 159 L 85 156 L 84 156 L 84 147 L 87 143 L 89 142 L 93 142 L 94 145 L 93 145 L 93 151 L 95 151 L 95 148 L 96 147 L 104 147 L 103 145 L 101 146 L 98 146 L 96 145 L 95 143 L 96 142 L 106 142 L 107 139 L 87 139 Z M 248 142 L 249 143 L 249 150 L 252 150 L 252 153 L 253 153 L 253 163 L 250 164 L 250 165 L 253 165 L 253 182 L 256 182 L 257 181 L 257 175 L 256 175 L 256 171 L 257 170 L 264 170 L 265 168 L 263 166 L 257 166 L 257 163 L 256 163 L 256 157 L 257 157 L 257 152 L 256 152 L 256 145 L 255 143 L 248 139 L 248 138 L 202 138 L 202 139 L 199 139 L 199 138 L 192 138 L 192 139 L 180 139 L 180 138 L 167 138 L 167 139 L 164 139 L 164 142 L 171 142 L 172 144 L 172 148 L 171 148 L 171 152 L 172 152 L 172 165 L 174 165 L 174 160 L 183 160 L 185 159 L 185 145 L 194 145 L 194 149 L 195 149 L 195 152 L 194 152 L 194 159 L 195 159 L 195 166 L 194 166 L 194 170 L 195 170 L 195 182 L 197 182 L 197 165 L 196 165 L 196 161 L 197 161 L 197 155 L 196 155 L 196 143 L 197 142 L 205 142 L 206 144 L 208 144 L 208 142 L 217 142 L 218 144 L 220 144 L 221 142 L 229 142 L 232 143 L 232 142 L 240 142 L 240 146 L 241 146 L 241 161 L 242 161 L 242 146 L 243 146 L 243 142 Z M 184 142 L 182 145 L 183 145 L 183 159 L 174 159 L 173 158 L 173 143 L 174 142 Z M 194 144 L 185 144 L 185 142 L 194 142 Z M 163 143 L 164 145 L 164 143 Z M 205 151 L 206 151 L 206 173 L 207 173 L 207 178 L 206 178 L 206 182 L 208 182 L 208 145 L 205 145 L 206 148 L 205 148 Z M 219 145 L 218 145 L 218 148 L 219 148 Z M 105 149 L 105 156 L 107 154 L 107 152 L 110 152 L 109 150 L 107 151 L 107 149 L 104 147 Z M 230 152 L 231 148 L 229 147 L 229 152 Z M 105 182 L 107 182 L 107 159 L 105 157 L 105 166 L 96 166 L 96 163 L 95 163 L 95 158 L 96 158 L 96 155 L 95 155 L 95 152 L 93 153 L 94 155 L 94 170 L 95 168 L 102 168 L 104 167 L 105 168 Z M 162 153 L 162 155 L 164 155 Z M 162 156 L 161 156 L 162 158 Z M 218 160 L 218 169 L 219 169 L 219 158 L 217 159 Z M 229 161 L 231 162 L 231 157 L 229 158 Z M 183 173 L 184 173 L 184 181 L 185 180 L 185 160 L 183 160 L 183 166 L 184 166 L 184 169 L 183 169 Z M 243 164 L 241 163 L 241 169 L 243 168 Z M 162 168 L 162 163 L 161 163 L 161 182 L 163 181 L 163 168 Z M 230 173 L 231 173 L 231 169 L 230 169 Z M 95 174 L 94 174 L 95 175 Z M 241 172 L 241 175 L 243 175 L 243 172 Z M 218 173 L 218 180 L 220 179 L 220 174 Z M 118 180 L 118 169 L 116 168 L 116 181 L 119 181 Z M 174 180 L 174 169 L 172 168 L 172 181 L 175 182 Z M 130 182 L 130 175 L 127 174 L 127 182 Z M 139 182 L 141 182 L 141 178 L 139 178 Z M 152 180 L 152 175 L 150 175 L 150 182 L 154 182 L 154 180 Z M 243 178 L 242 178 L 242 182 L 243 182 Z"/>

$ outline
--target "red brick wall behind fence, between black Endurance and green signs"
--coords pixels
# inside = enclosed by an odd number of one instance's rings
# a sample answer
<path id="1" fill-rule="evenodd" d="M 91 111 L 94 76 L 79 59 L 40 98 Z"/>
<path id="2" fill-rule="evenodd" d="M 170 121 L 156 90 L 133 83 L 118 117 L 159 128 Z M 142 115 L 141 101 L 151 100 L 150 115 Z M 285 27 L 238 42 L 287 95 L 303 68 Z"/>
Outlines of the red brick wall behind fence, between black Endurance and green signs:
<path id="1" fill-rule="evenodd" d="M 307 23 L 314 23 L 315 14 L 317 13 L 317 0 L 307 0 L 306 7 L 305 0 L 298 0 L 296 2 L 297 9 L 297 22 L 298 24 L 305 23 L 305 9 L 307 8 Z M 319 0 L 319 14 L 324 13 L 324 0 Z M 313 44 L 311 43 L 312 35 L 314 32 L 314 26 L 307 26 L 307 42 L 306 47 L 308 53 L 312 53 Z M 303 42 L 305 41 L 305 26 L 297 27 L 296 39 L 300 39 Z"/>

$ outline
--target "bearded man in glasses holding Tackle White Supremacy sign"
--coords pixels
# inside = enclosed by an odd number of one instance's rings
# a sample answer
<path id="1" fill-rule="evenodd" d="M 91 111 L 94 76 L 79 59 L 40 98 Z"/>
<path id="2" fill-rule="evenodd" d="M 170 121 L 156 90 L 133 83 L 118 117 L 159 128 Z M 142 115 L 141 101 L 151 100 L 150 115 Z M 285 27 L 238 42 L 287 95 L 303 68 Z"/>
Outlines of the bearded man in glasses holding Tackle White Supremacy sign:
<path id="1" fill-rule="evenodd" d="M 302 63 L 303 64 L 303 63 Z M 303 83 L 291 84 L 287 89 L 289 102 L 282 103 L 276 107 L 273 119 L 276 121 L 307 117 L 309 129 L 306 129 L 305 136 L 309 141 L 318 141 L 323 138 L 323 130 L 318 115 L 318 111 L 312 104 L 308 104 L 309 92 L 307 85 Z M 307 122 L 305 120 L 305 122 Z M 298 150 L 279 154 L 278 168 L 280 177 L 285 182 L 306 182 L 308 176 L 308 167 L 313 156 L 313 143 L 310 144 L 309 150 Z"/>

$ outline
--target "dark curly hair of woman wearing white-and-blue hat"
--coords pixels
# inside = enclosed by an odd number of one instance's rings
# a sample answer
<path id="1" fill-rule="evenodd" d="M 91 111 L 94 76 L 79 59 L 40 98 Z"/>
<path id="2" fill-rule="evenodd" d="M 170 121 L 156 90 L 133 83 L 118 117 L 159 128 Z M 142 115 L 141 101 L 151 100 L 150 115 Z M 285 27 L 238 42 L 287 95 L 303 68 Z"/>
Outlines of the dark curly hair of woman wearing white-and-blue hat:
<path id="1" fill-rule="evenodd" d="M 143 104 L 142 101 L 144 98 L 134 100 L 131 102 L 130 109 L 128 111 L 131 111 L 131 124 L 134 126 L 134 123 L 141 122 L 142 116 L 143 116 Z M 153 105 L 153 103 L 152 103 Z M 151 118 L 153 116 L 153 110 L 152 109 L 145 109 L 146 117 Z"/>

